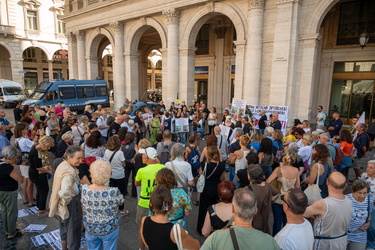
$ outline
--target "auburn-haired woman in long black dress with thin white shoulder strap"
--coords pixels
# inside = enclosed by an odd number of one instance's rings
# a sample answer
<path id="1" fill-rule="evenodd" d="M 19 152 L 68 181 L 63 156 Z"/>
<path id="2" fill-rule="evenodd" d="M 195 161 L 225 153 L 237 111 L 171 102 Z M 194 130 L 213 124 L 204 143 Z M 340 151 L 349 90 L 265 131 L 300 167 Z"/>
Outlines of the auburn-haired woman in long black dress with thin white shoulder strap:
<path id="1" fill-rule="evenodd" d="M 200 174 L 205 175 L 206 181 L 200 196 L 197 231 L 202 234 L 202 227 L 207 209 L 219 202 L 217 185 L 225 180 L 225 162 L 220 162 L 220 151 L 217 147 L 207 148 L 207 162 L 202 163 Z"/>

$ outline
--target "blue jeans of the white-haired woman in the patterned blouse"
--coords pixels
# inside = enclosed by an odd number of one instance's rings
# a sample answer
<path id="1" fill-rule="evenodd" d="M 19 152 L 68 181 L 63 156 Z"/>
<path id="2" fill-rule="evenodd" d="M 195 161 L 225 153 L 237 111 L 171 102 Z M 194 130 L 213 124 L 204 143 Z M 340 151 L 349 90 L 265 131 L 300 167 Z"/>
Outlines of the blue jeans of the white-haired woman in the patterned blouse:
<path id="1" fill-rule="evenodd" d="M 89 233 L 85 233 L 87 249 L 89 250 L 101 250 L 102 246 L 105 250 L 116 250 L 118 240 L 119 228 L 110 234 L 103 236 L 94 236 Z"/>

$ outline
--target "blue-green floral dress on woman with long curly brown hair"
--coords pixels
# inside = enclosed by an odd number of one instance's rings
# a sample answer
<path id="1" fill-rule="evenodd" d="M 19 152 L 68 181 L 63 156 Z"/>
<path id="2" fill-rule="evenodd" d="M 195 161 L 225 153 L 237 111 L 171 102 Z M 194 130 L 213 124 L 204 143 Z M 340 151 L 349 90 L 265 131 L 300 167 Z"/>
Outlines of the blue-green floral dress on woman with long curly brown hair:
<path id="1" fill-rule="evenodd" d="M 186 192 L 180 188 L 172 188 L 173 210 L 169 213 L 168 219 L 173 224 L 179 224 L 187 230 L 187 217 L 185 212 L 191 211 L 191 200 Z"/>

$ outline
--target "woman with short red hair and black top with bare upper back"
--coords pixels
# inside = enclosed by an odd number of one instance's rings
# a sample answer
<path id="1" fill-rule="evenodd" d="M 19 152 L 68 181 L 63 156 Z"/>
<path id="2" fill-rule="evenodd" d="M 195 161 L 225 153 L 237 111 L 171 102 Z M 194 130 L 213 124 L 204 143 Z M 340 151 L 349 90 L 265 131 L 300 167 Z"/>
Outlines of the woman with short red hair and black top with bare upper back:
<path id="1" fill-rule="evenodd" d="M 202 227 L 202 234 L 208 237 L 216 230 L 227 228 L 233 223 L 232 199 L 236 187 L 231 181 L 223 181 L 218 185 L 220 202 L 210 206 Z"/>

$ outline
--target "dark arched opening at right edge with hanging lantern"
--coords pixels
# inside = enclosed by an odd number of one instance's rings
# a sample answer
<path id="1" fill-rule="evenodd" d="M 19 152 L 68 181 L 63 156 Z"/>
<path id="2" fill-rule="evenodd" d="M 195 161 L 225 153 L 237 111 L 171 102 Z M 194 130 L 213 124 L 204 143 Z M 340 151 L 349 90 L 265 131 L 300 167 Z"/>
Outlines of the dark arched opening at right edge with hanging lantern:
<path id="1" fill-rule="evenodd" d="M 332 1 L 321 17 L 314 99 L 328 116 L 339 111 L 344 123 L 357 113 L 375 116 L 374 36 L 364 49 L 359 44 L 362 33 L 375 32 L 374 10 L 374 1 Z"/>

